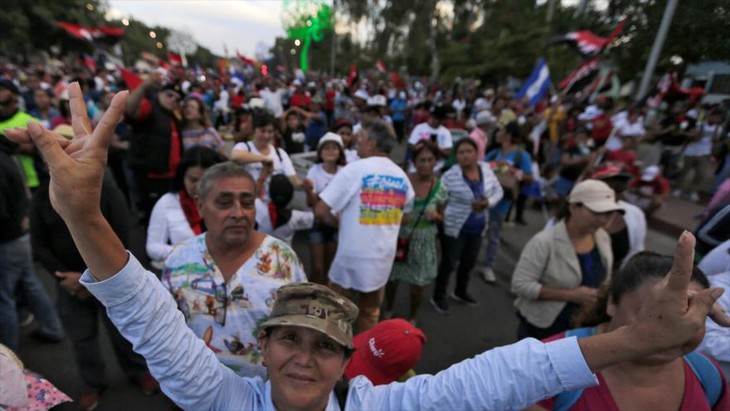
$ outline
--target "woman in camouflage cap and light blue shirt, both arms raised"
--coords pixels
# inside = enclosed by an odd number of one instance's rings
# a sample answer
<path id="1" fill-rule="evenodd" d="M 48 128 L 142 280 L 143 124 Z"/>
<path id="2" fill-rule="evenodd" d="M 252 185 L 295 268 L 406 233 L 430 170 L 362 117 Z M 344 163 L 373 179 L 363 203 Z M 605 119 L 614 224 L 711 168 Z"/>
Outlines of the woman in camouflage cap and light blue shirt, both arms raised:
<path id="1" fill-rule="evenodd" d="M 75 125 L 85 130 L 77 84 L 71 94 Z M 722 289 L 687 293 L 694 237 L 684 233 L 670 272 L 634 323 L 581 340 L 520 341 L 436 375 L 377 387 L 360 376 L 336 388 L 352 353 L 356 306 L 321 285 L 287 285 L 276 292 L 271 315 L 257 334 L 268 381 L 239 377 L 186 327 L 168 292 L 124 249 L 101 215 L 100 176 L 126 97 L 124 92 L 115 96 L 100 125 L 72 143 L 37 123 L 6 134 L 18 143 L 33 142 L 48 159 L 53 206 L 88 267 L 82 284 L 147 359 L 165 394 L 184 409 L 519 409 L 595 385 L 593 372 L 614 364 L 668 350 L 691 351 L 708 315 L 730 326 L 730 317 L 714 306 Z"/>

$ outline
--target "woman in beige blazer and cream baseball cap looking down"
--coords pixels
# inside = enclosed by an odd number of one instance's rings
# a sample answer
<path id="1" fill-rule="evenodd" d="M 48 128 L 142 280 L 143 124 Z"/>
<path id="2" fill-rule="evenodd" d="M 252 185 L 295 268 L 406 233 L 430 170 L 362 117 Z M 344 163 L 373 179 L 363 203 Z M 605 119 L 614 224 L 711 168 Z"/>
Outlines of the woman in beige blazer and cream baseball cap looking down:
<path id="1" fill-rule="evenodd" d="M 603 229 L 622 212 L 604 182 L 584 180 L 570 192 L 558 223 L 525 245 L 512 274 L 517 337 L 546 338 L 570 328 L 580 306 L 596 301 L 611 272 L 611 238 Z"/>

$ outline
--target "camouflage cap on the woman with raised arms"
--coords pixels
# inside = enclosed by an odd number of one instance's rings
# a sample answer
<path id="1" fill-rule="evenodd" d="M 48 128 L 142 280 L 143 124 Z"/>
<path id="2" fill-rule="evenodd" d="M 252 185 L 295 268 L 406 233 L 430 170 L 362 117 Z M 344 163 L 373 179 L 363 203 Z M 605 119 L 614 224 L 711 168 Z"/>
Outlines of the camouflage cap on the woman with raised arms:
<path id="1" fill-rule="evenodd" d="M 352 326 L 358 309 L 352 301 L 315 283 L 287 284 L 276 291 L 271 316 L 261 329 L 289 325 L 323 332 L 353 348 Z"/>

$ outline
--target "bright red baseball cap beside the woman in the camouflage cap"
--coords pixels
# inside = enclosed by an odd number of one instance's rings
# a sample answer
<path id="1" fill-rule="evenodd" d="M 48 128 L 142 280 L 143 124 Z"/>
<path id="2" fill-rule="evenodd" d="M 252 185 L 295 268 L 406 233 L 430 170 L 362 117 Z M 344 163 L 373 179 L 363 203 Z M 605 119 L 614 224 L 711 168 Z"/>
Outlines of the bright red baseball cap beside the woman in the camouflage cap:
<path id="1" fill-rule="evenodd" d="M 373 385 L 389 384 L 421 359 L 426 334 L 401 318 L 385 320 L 353 338 L 355 353 L 345 369 L 351 380 L 366 376 Z"/>

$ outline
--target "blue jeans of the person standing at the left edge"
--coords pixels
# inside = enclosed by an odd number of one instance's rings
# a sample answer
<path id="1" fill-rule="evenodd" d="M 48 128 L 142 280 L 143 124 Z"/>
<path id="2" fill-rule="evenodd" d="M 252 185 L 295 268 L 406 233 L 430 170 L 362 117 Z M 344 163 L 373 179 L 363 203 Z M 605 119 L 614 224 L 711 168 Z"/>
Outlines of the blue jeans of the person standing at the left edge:
<path id="1" fill-rule="evenodd" d="M 17 300 L 35 315 L 40 331 L 62 337 L 61 321 L 33 267 L 30 234 L 0 244 L 0 343 L 18 349 Z"/>

